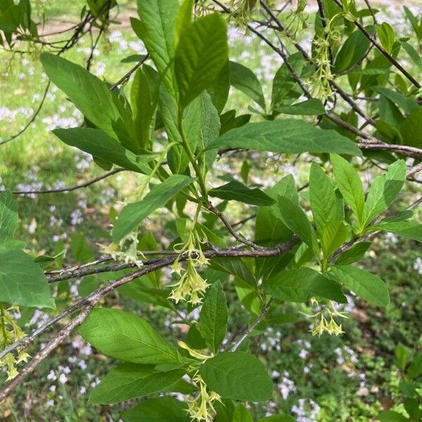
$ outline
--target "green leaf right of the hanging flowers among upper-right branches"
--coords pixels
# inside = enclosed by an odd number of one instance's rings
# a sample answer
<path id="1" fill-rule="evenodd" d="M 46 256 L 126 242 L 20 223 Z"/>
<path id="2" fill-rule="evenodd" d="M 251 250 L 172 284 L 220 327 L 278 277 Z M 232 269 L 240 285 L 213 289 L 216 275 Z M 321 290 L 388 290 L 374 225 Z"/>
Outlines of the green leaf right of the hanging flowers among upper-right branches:
<path id="1" fill-rule="evenodd" d="M 371 41 L 360 30 L 352 32 L 335 57 L 334 72 L 343 72 L 359 63 L 364 58 L 370 44 Z"/>

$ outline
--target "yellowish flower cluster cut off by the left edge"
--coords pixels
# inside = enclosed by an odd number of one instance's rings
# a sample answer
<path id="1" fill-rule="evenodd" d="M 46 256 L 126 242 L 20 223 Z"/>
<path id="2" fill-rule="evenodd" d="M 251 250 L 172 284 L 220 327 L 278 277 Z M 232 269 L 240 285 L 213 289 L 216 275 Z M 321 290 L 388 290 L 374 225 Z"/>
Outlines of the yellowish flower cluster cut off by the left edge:
<path id="1" fill-rule="evenodd" d="M 0 344 L 1 349 L 4 350 L 8 345 L 15 343 L 25 337 L 25 333 L 22 331 L 20 326 L 16 324 L 15 317 L 12 312 L 19 312 L 19 308 L 11 306 L 8 309 L 4 309 L 4 305 L 0 305 Z M 6 354 L 3 359 L 0 359 L 0 368 L 6 366 L 7 380 L 10 381 L 18 375 L 18 369 L 16 365 L 19 362 L 27 362 L 30 357 L 25 350 L 19 350 L 15 355 L 12 352 Z"/>

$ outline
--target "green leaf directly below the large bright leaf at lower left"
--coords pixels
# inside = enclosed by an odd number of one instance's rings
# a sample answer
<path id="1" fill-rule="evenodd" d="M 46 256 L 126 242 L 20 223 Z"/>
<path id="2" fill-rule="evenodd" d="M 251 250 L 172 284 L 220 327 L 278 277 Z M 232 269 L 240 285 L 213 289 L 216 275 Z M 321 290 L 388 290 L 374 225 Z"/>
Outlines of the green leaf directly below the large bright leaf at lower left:
<path id="1" fill-rule="evenodd" d="M 179 381 L 184 371 L 160 372 L 153 366 L 125 362 L 112 369 L 89 395 L 89 402 L 115 404 L 160 392 Z"/>

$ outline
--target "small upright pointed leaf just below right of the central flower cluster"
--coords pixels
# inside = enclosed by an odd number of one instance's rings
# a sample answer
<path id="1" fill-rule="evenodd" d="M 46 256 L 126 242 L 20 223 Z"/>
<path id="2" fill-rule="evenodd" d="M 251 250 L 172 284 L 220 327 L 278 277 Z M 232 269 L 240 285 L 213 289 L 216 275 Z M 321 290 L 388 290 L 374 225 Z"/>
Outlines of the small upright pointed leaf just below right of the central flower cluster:
<path id="1" fill-rule="evenodd" d="M 227 331 L 227 305 L 222 283 L 208 289 L 199 316 L 199 331 L 212 352 L 217 353 Z"/>

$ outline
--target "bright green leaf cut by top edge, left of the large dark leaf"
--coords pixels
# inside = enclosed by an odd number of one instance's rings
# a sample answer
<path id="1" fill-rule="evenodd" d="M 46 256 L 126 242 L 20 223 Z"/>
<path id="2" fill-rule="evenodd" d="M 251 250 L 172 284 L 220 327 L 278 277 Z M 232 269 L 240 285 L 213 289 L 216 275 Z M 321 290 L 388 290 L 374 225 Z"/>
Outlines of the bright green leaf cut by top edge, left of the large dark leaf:
<path id="1" fill-rule="evenodd" d="M 176 80 L 172 61 L 175 54 L 175 24 L 179 1 L 177 0 L 138 0 L 136 34 L 142 39 L 155 67 L 164 80 L 173 98 L 176 96 Z"/>

